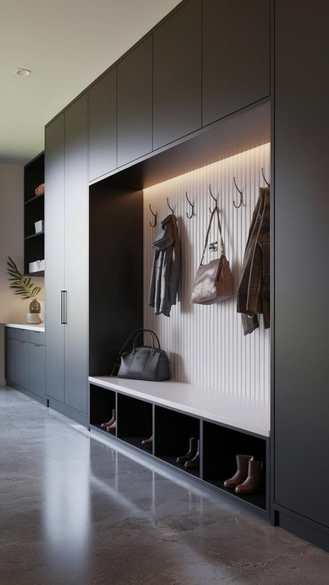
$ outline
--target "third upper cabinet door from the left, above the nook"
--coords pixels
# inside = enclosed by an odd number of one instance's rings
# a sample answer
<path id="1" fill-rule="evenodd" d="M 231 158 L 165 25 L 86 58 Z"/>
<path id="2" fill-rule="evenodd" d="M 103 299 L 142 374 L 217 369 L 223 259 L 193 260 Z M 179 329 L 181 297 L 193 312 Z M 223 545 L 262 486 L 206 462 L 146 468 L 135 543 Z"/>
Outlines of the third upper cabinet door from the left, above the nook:
<path id="1" fill-rule="evenodd" d="M 201 128 L 201 0 L 153 34 L 153 150 Z"/>

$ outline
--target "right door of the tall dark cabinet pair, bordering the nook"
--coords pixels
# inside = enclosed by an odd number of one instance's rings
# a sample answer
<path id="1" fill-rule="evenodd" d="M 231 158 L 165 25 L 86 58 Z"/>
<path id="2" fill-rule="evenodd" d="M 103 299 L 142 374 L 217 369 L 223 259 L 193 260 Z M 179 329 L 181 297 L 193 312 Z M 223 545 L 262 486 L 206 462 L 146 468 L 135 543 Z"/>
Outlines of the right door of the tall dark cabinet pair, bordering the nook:
<path id="1" fill-rule="evenodd" d="M 85 413 L 89 229 L 87 106 L 86 93 L 65 111 L 65 404 Z"/>

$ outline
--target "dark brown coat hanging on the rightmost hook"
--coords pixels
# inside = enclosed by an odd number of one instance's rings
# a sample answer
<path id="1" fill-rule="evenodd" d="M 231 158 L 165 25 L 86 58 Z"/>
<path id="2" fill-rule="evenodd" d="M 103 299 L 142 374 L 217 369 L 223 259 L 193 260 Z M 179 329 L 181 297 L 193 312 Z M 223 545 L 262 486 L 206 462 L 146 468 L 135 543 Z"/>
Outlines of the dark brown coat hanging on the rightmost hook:
<path id="1" fill-rule="evenodd" d="M 259 327 L 257 313 L 263 314 L 264 327 L 269 328 L 269 202 L 269 187 L 261 187 L 251 220 L 237 289 L 237 312 L 242 313 L 244 335 Z"/>

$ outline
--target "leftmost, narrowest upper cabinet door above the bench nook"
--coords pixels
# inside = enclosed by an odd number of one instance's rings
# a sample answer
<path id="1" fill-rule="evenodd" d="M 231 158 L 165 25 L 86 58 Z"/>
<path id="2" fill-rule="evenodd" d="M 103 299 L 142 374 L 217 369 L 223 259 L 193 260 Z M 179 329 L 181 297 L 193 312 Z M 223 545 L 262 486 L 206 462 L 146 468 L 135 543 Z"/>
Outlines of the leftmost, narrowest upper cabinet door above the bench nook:
<path id="1" fill-rule="evenodd" d="M 117 167 L 117 68 L 89 91 L 89 180 Z"/>

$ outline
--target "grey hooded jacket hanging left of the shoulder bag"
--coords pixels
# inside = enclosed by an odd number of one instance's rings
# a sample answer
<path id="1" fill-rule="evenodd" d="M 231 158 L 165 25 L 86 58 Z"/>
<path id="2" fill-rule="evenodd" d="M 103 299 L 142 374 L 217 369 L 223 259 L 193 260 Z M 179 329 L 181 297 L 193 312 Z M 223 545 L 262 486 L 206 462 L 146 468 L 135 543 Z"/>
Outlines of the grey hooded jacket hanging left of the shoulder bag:
<path id="1" fill-rule="evenodd" d="M 170 214 L 161 223 L 162 229 L 152 244 L 155 250 L 149 305 L 155 315 L 170 316 L 170 309 L 179 301 L 180 241 L 177 218 Z"/>

